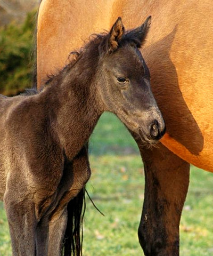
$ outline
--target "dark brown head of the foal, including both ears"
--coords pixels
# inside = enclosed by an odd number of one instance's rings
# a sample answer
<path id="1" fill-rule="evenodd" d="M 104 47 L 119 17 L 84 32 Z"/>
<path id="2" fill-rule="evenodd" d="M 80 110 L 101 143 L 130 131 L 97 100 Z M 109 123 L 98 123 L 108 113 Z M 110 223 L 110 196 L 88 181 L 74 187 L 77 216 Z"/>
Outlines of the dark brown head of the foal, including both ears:
<path id="1" fill-rule="evenodd" d="M 99 45 L 97 85 L 106 111 L 116 114 L 128 129 L 146 141 L 160 139 L 165 123 L 150 87 L 150 73 L 141 55 L 151 17 L 125 33 L 120 18 Z"/>

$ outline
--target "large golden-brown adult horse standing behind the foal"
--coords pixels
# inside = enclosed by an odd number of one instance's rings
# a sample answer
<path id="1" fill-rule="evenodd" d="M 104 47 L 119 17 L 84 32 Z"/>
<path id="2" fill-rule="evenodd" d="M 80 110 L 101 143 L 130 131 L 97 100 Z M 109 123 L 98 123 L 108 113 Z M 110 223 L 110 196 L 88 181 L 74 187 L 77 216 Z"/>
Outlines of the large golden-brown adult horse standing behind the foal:
<path id="1" fill-rule="evenodd" d="M 179 220 L 190 164 L 213 172 L 213 5 L 211 0 L 43 0 L 38 15 L 38 87 L 69 52 L 117 17 L 127 28 L 152 15 L 143 56 L 167 125 L 157 148 L 135 138 L 145 166 L 138 229 L 146 256 L 179 255 Z M 133 134 L 134 136 L 134 134 Z"/>

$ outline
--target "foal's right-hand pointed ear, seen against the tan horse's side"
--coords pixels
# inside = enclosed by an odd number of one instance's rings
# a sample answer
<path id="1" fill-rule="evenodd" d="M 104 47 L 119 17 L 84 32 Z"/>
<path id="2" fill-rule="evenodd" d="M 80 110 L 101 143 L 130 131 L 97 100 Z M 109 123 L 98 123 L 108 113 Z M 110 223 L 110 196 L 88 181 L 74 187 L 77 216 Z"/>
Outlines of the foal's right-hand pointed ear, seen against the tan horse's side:
<path id="1" fill-rule="evenodd" d="M 150 25 L 151 25 L 151 16 L 149 16 L 140 27 L 130 30 L 126 34 L 126 40 L 129 41 L 129 43 L 136 44 L 136 46 L 140 48 L 144 43 L 146 35 L 148 34 Z"/>

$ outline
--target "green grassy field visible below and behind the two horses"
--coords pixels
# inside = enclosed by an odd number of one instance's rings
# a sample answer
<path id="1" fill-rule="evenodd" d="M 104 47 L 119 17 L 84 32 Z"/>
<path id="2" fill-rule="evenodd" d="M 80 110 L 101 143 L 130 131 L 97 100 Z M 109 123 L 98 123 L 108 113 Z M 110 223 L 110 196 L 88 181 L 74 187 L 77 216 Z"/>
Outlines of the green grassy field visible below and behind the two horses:
<path id="1" fill-rule="evenodd" d="M 144 172 L 135 142 L 109 113 L 102 116 L 90 147 L 92 177 L 87 190 L 104 217 L 87 198 L 84 256 L 143 255 L 138 243 Z M 213 255 L 213 174 L 192 166 L 181 220 L 182 256 Z M 10 236 L 0 204 L 0 255 L 11 256 Z"/>

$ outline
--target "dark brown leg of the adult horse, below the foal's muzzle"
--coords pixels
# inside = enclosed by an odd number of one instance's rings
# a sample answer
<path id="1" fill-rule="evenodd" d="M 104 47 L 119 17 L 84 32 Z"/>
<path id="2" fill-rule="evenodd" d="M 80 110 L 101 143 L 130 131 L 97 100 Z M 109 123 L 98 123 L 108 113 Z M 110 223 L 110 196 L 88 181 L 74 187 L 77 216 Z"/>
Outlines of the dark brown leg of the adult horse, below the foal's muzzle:
<path id="1" fill-rule="evenodd" d="M 179 221 L 189 186 L 190 165 L 159 143 L 140 146 L 145 169 L 145 198 L 138 229 L 146 256 L 179 255 Z"/>

